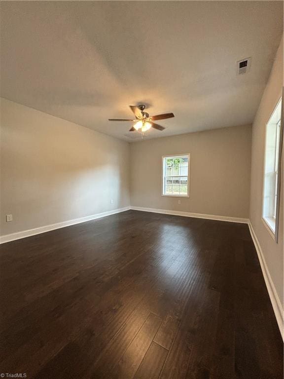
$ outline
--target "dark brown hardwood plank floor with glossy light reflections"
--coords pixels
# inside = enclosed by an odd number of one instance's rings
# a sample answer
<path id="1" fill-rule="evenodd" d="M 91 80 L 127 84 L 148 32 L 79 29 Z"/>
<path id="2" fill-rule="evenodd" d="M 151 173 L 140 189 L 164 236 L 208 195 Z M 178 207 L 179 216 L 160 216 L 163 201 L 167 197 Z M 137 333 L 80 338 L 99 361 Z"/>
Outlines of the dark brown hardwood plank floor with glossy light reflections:
<path id="1" fill-rule="evenodd" d="M 2 373 L 283 378 L 247 225 L 128 211 L 0 249 Z"/>

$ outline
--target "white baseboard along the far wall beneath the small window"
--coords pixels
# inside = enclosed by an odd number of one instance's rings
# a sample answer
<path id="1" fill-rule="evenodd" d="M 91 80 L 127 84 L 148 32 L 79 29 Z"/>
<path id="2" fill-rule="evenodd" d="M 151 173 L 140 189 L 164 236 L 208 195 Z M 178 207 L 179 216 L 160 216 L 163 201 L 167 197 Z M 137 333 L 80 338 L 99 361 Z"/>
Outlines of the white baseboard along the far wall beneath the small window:
<path id="1" fill-rule="evenodd" d="M 166 214 L 166 215 L 184 216 L 184 217 L 195 217 L 195 218 L 198 218 L 198 219 L 229 221 L 231 223 L 242 223 L 242 224 L 248 224 L 249 223 L 249 219 L 241 219 L 241 218 L 238 218 L 238 217 L 205 215 L 203 213 L 169 211 L 169 210 L 165 210 L 165 209 L 142 208 L 142 207 L 133 207 L 133 206 L 131 206 L 131 209 L 133 209 L 135 211 L 163 213 L 163 214 Z"/>

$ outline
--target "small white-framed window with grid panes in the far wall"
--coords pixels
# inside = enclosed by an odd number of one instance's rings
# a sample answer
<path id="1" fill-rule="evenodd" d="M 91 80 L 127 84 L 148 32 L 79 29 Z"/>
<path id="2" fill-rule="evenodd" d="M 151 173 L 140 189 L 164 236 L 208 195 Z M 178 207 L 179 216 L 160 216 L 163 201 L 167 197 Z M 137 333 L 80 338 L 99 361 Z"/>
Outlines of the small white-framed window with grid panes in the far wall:
<path id="1" fill-rule="evenodd" d="M 163 156 L 163 196 L 189 197 L 190 154 Z"/>

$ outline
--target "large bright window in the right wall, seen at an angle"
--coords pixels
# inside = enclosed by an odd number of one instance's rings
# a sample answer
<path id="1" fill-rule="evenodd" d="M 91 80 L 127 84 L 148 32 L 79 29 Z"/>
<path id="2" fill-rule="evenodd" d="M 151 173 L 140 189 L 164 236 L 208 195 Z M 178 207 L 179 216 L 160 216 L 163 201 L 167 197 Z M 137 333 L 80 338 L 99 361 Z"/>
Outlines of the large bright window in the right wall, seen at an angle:
<path id="1" fill-rule="evenodd" d="M 281 120 L 282 99 L 266 124 L 265 165 L 263 181 L 262 217 L 273 237 L 278 227 L 278 208 L 280 195 L 280 149 L 282 140 Z"/>

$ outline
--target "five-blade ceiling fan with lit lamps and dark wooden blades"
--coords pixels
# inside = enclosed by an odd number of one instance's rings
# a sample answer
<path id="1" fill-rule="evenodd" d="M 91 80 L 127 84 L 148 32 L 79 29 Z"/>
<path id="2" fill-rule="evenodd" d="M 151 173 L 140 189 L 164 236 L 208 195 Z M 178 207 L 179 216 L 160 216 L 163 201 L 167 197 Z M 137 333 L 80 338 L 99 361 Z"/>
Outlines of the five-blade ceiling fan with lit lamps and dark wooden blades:
<path id="1" fill-rule="evenodd" d="M 130 105 L 129 108 L 135 115 L 135 119 L 127 119 L 127 118 L 109 118 L 109 121 L 131 121 L 134 122 L 134 125 L 131 129 L 129 129 L 130 132 L 134 131 L 140 131 L 144 133 L 145 131 L 149 130 L 150 128 L 154 128 L 157 130 L 164 130 L 164 126 L 158 125 L 155 122 L 156 120 L 164 120 L 165 118 L 171 118 L 175 117 L 173 113 L 164 113 L 164 114 L 157 114 L 155 116 L 149 116 L 147 112 L 144 112 L 145 106 L 139 105 L 134 106 Z"/>

